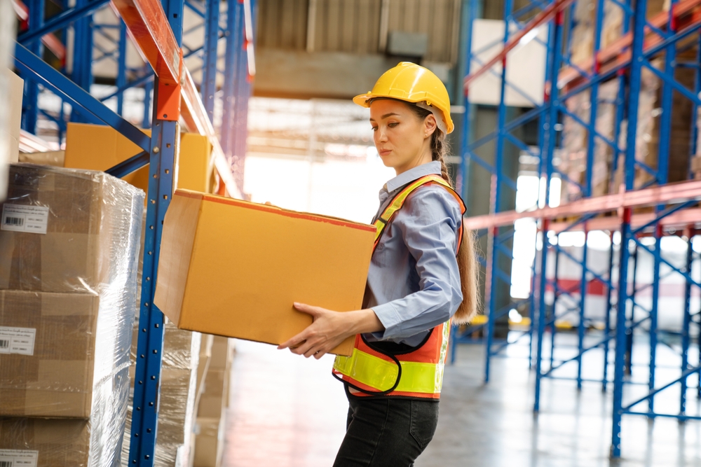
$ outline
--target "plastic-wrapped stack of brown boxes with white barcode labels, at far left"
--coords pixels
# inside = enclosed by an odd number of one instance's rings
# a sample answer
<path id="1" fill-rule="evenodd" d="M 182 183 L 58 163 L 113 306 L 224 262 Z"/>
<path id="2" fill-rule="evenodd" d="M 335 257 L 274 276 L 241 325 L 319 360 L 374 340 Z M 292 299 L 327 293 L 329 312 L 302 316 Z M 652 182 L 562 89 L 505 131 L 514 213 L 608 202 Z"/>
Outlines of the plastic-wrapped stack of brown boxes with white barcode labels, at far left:
<path id="1" fill-rule="evenodd" d="M 0 218 L 0 458 L 118 465 L 144 193 L 11 167 Z"/>

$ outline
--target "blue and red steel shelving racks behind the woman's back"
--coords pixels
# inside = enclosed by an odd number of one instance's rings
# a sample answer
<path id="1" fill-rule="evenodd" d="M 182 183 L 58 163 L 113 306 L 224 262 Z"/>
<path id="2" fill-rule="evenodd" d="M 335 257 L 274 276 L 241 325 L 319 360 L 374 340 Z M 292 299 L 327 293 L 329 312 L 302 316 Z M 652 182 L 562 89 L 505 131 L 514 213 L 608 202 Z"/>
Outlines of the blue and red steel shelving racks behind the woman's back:
<path id="1" fill-rule="evenodd" d="M 581 0 L 580 0 L 581 1 Z M 477 1 L 472 1 L 472 11 L 479 10 Z M 491 214 L 465 219 L 465 225 L 472 229 L 487 232 L 489 235 L 489 252 L 486 258 L 486 378 L 489 379 L 489 358 L 494 355 L 491 333 L 496 319 L 504 313 L 497 309 L 494 297 L 496 281 L 509 281 L 505 274 L 498 270 L 499 255 L 508 256 L 509 251 L 502 246 L 508 235 L 512 235 L 512 225 L 522 218 L 538 220 L 538 240 L 536 245 L 536 260 L 533 263 L 533 281 L 531 307 L 529 312 L 533 317 L 531 335 L 534 348 L 535 401 L 534 410 L 540 410 L 540 386 L 543 378 L 573 379 L 578 389 L 583 382 L 590 381 L 583 377 L 583 356 L 594 349 L 600 349 L 603 354 L 601 377 L 592 379 L 602 385 L 604 391 L 609 384 L 613 386 L 613 412 L 611 432 L 611 456 L 621 454 L 621 419 L 624 415 L 635 414 L 655 419 L 655 417 L 673 417 L 680 421 L 700 420 L 699 414 L 686 413 L 686 401 L 690 391 L 687 379 L 699 375 L 701 362 L 691 362 L 688 351 L 695 338 L 698 343 L 700 313 L 690 309 L 690 298 L 697 293 L 701 284 L 692 274 L 697 267 L 697 252 L 693 251 L 693 239 L 697 235 L 697 225 L 701 222 L 698 202 L 701 199 L 701 182 L 695 180 L 668 183 L 669 161 L 672 141 L 672 109 L 674 93 L 688 99 L 691 106 L 692 127 L 690 128 L 689 155 L 697 153 L 697 112 L 701 105 L 701 2 L 698 0 L 672 1 L 669 11 L 658 13 L 651 18 L 646 17 L 647 1 L 639 0 L 632 8 L 629 1 L 611 1 L 613 8 L 620 8 L 620 38 L 608 46 L 602 46 L 601 32 L 604 24 L 606 3 L 604 0 L 593 2 L 594 8 L 594 39 L 592 41 L 591 58 L 587 62 L 573 62 L 572 49 L 574 27 L 573 11 L 576 3 L 571 0 L 555 0 L 544 4 L 533 2 L 515 10 L 510 0 L 505 1 L 504 20 L 515 27 L 505 28 L 507 31 L 503 40 L 501 53 L 494 56 L 477 70 L 468 70 L 465 78 L 465 108 L 470 106 L 468 90 L 470 84 L 482 74 L 494 72 L 495 64 L 502 65 L 501 99 L 498 105 L 498 127 L 489 135 L 496 141 L 496 164 L 489 167 L 492 176 Z M 609 11 L 608 14 L 612 14 Z M 524 16 L 526 18 L 524 18 Z M 474 19 L 476 15 L 473 15 Z M 534 106 L 519 118 L 508 121 L 504 90 L 510 83 L 506 81 L 508 53 L 518 46 L 526 34 L 535 28 L 547 25 L 547 71 L 545 83 L 545 99 L 543 105 Z M 511 32 L 509 32 L 511 31 Z M 695 60 L 683 62 L 677 56 L 686 50 L 695 48 Z M 468 47 L 468 50 L 470 47 Z M 472 52 L 475 55 L 477 51 Z M 468 63 L 470 62 L 468 57 Z M 659 64 L 655 67 L 655 63 Z M 693 71 L 693 88 L 679 83 L 675 72 L 682 67 Z M 641 81 L 644 73 L 653 74 L 660 80 L 660 118 L 659 118 L 659 151 L 656 167 L 646 163 L 641 157 L 637 158 L 637 134 L 639 131 L 639 96 Z M 618 93 L 613 102 L 615 118 L 613 119 L 612 136 L 607 136 L 597 127 L 597 111 L 603 102 L 599 97 L 599 88 L 603 83 L 615 80 L 618 82 Z M 583 94 L 587 93 L 587 94 Z M 579 98 L 580 102 L 588 104 L 588 118 L 582 118 L 576 112 L 568 109 L 567 99 Z M 474 118 L 474 117 L 472 117 Z M 557 159 L 562 151 L 561 135 L 562 122 L 569 118 L 574 124 L 580 125 L 586 132 L 585 170 L 583 183 L 571 180 L 568 174 L 557 167 Z M 522 151 L 522 143 L 510 134 L 515 127 L 524 125 L 529 120 L 538 119 L 539 147 L 538 153 L 528 151 L 537 156 L 540 183 L 545 183 L 542 192 L 545 197 L 543 205 L 533 207 L 531 211 L 500 211 L 498 195 L 503 186 L 515 184 L 505 179 L 503 174 L 502 157 L 505 144 L 512 144 Z M 470 122 L 470 118 L 466 118 Z M 469 125 L 469 123 L 468 123 Z M 477 163 L 484 167 L 484 161 L 477 158 L 475 148 L 484 144 L 487 138 L 475 141 L 470 139 L 470 128 L 465 128 L 465 143 L 462 148 L 461 174 L 470 171 L 471 165 Z M 609 165 L 611 179 L 608 183 L 608 195 L 592 196 L 594 151 L 597 144 L 607 147 L 613 154 Z M 623 156 L 624 165 L 620 168 L 622 181 L 620 186 L 614 176 L 617 172 L 619 156 Z M 690 159 L 691 160 L 691 159 Z M 636 183 L 636 172 L 648 174 L 648 181 Z M 689 169 L 689 174 L 692 172 Z M 550 181 L 554 177 L 566 181 L 578 188 L 579 199 L 562 205 L 550 205 Z M 690 179 L 693 177 L 690 176 Z M 594 270 L 587 261 L 587 240 L 594 230 L 608 231 L 611 235 L 611 250 L 609 252 L 608 268 L 604 273 Z M 579 257 L 574 256 L 558 242 L 562 232 L 580 231 L 585 235 L 585 242 Z M 665 258 L 662 253 L 662 240 L 665 236 L 677 236 L 687 244 L 686 261 L 678 265 Z M 620 242 L 615 242 L 615 238 Z M 643 241 L 643 237 L 648 237 Z M 618 245 L 617 245 L 618 243 Z M 620 246 L 619 246 L 620 245 Z M 653 258 L 653 280 L 648 286 L 636 284 L 637 258 L 648 254 Z M 553 256 L 552 260 L 549 259 Z M 560 258 L 566 258 L 580 267 L 578 286 L 563 288 L 558 280 L 557 264 Z M 554 270 L 552 266 L 554 265 Z M 668 272 L 662 273 L 662 266 Z M 664 379 L 658 374 L 662 365 L 658 362 L 658 315 L 660 313 L 660 279 L 669 274 L 679 274 L 684 281 L 683 323 L 679 338 L 681 341 L 680 360 L 677 376 L 669 377 L 669 365 L 665 368 Z M 590 300 L 589 288 L 592 284 L 601 284 L 606 296 L 606 318 L 603 328 L 590 333 L 590 320 L 585 316 L 585 305 Z M 641 305 L 641 291 L 649 289 L 652 296 L 650 307 Z M 573 306 L 565 306 L 564 312 L 556 307 L 557 302 L 569 297 Z M 556 320 L 564 314 L 577 314 L 578 324 L 577 347 L 575 350 L 563 349 L 555 339 Z M 550 329 L 548 334 L 546 330 Z M 636 331 L 634 333 L 634 331 Z M 634 337 L 635 336 L 635 337 Z M 649 342 L 649 359 L 639 368 L 646 380 L 640 384 L 634 376 L 639 370 L 634 370 L 632 363 L 632 340 L 644 337 Z M 459 342 L 459 340 L 458 340 Z M 592 343 L 593 342 L 593 343 Z M 545 352 L 549 350 L 549 355 Z M 563 350 L 569 352 L 562 357 Z M 611 361 L 613 353 L 613 361 Z M 558 375 L 557 370 L 564 366 L 576 365 L 576 377 Z M 608 370 L 613 365 L 613 375 Z M 643 365 L 636 365 L 636 368 Z M 633 377 L 632 377 L 632 376 Z M 671 379 L 670 379 L 671 378 Z M 662 391 L 675 386 L 679 389 L 679 412 L 655 410 L 655 398 L 662 396 Z M 669 392 L 669 391 L 668 391 Z M 701 389 L 695 389 L 695 395 L 701 397 Z M 647 410 L 639 409 L 646 403 Z"/>

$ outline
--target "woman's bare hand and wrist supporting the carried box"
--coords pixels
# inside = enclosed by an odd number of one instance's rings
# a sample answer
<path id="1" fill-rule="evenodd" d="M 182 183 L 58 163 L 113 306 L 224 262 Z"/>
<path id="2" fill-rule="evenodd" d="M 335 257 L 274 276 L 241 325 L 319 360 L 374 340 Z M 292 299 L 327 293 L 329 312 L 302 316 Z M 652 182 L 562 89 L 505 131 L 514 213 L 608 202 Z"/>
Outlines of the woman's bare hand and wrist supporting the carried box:
<path id="1" fill-rule="evenodd" d="M 304 303 L 294 303 L 294 308 L 311 314 L 314 322 L 292 339 L 278 345 L 278 349 L 290 349 L 293 354 L 304 355 L 306 358 L 321 358 L 351 335 L 384 329 L 372 309 L 339 313 Z"/>

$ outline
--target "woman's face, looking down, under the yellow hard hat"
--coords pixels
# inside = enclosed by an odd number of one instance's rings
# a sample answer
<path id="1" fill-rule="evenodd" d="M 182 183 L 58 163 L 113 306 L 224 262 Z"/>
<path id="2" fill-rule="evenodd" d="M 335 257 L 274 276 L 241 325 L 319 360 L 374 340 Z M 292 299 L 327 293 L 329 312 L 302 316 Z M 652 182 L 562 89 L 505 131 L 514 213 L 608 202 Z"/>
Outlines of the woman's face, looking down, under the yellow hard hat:
<path id="1" fill-rule="evenodd" d="M 378 99 L 370 104 L 370 124 L 377 153 L 397 175 L 432 160 L 430 138 L 436 131 L 433 115 L 422 119 L 404 102 Z"/>

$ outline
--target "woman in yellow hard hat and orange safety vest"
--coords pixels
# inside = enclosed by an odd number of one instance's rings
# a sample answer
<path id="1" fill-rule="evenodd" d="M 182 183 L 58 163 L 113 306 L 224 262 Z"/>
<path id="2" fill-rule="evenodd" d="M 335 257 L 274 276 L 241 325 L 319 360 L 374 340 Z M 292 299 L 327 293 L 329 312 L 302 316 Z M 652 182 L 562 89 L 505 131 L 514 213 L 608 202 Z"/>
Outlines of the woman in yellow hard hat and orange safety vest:
<path id="1" fill-rule="evenodd" d="M 320 358 L 355 335 L 353 355 L 334 363 L 350 405 L 334 466 L 413 466 L 437 425 L 450 324 L 477 309 L 477 266 L 444 162 L 443 83 L 402 62 L 353 102 L 369 107 L 377 152 L 397 174 L 380 192 L 363 309 L 295 303 L 314 321 L 278 348 Z"/>

